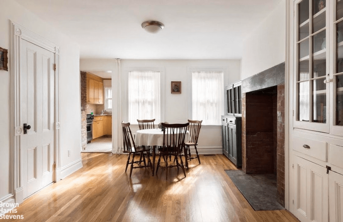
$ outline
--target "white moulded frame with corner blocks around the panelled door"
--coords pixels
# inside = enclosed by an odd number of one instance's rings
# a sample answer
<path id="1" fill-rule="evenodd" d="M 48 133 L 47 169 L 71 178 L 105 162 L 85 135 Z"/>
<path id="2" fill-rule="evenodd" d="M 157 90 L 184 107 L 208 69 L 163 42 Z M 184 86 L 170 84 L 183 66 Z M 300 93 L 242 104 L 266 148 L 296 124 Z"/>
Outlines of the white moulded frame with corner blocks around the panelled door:
<path id="1" fill-rule="evenodd" d="M 20 40 L 26 40 L 55 54 L 55 148 L 54 161 L 56 163 L 54 181 L 60 179 L 60 94 L 59 94 L 59 46 L 40 37 L 26 28 L 10 21 L 10 192 L 14 194 L 15 202 L 22 203 L 24 199 L 22 159 L 20 139 L 23 126 L 20 119 Z"/>

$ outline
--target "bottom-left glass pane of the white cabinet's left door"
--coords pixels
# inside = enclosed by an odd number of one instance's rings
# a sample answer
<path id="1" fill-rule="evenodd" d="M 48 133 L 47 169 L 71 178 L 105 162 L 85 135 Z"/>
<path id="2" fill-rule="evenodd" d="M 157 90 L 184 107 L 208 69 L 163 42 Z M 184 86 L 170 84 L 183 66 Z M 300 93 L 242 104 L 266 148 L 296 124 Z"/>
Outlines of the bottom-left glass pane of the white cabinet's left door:
<path id="1" fill-rule="evenodd" d="M 309 81 L 306 82 L 299 82 L 298 83 L 298 119 L 300 121 L 309 121 L 309 108 L 310 108 L 310 100 L 309 100 Z"/>

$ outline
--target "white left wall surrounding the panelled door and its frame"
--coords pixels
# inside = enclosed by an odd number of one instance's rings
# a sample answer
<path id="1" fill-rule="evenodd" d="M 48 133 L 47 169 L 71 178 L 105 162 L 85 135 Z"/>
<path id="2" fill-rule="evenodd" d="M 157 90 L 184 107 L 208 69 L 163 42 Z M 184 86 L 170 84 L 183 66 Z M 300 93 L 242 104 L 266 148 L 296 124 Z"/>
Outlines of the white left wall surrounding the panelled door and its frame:
<path id="1" fill-rule="evenodd" d="M 0 47 L 10 49 L 9 20 L 60 46 L 61 166 L 81 160 L 79 46 L 15 1 L 1 0 L 0 9 Z M 0 200 L 10 194 L 10 76 L 11 70 L 0 70 Z M 71 149 L 70 157 L 68 149 Z"/>

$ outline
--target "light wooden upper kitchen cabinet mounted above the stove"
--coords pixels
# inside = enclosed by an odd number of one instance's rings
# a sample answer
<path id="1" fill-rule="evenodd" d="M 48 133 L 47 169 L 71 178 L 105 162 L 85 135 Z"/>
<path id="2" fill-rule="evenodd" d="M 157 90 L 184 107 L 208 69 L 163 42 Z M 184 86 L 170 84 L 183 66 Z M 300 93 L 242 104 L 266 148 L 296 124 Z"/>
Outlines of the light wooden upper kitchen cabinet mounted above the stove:
<path id="1" fill-rule="evenodd" d="M 103 79 L 87 73 L 87 103 L 104 104 Z"/>

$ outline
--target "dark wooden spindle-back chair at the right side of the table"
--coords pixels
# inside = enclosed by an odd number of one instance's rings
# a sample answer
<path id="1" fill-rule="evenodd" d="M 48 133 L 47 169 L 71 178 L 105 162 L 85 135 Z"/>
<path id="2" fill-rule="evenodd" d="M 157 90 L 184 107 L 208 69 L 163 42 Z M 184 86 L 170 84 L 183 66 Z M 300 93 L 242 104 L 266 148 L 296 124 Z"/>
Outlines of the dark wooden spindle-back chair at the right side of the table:
<path id="1" fill-rule="evenodd" d="M 201 128 L 202 120 L 188 120 L 189 126 L 188 131 L 191 136 L 191 140 L 185 143 L 185 162 L 186 162 L 186 168 L 188 169 L 188 160 L 191 161 L 194 158 L 198 158 L 199 164 L 200 164 L 200 158 L 197 150 L 198 145 L 198 138 L 199 138 L 199 132 Z M 194 146 L 195 152 L 197 153 L 197 156 L 191 156 L 190 146 Z"/>

